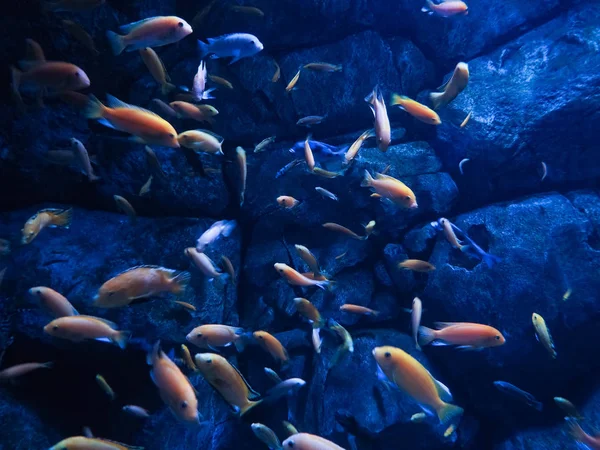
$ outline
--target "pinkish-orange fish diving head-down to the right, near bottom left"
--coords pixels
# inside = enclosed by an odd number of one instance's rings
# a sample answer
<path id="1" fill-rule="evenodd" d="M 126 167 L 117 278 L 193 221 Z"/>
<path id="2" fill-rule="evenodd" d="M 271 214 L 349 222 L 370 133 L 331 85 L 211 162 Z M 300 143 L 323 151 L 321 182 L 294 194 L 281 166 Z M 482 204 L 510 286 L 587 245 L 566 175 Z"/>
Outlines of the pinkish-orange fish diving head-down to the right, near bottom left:
<path id="1" fill-rule="evenodd" d="M 152 366 L 150 377 L 158 388 L 160 398 L 173 415 L 182 422 L 200 423 L 195 389 L 179 367 L 160 349 L 160 342 L 154 344 L 146 361 Z"/>

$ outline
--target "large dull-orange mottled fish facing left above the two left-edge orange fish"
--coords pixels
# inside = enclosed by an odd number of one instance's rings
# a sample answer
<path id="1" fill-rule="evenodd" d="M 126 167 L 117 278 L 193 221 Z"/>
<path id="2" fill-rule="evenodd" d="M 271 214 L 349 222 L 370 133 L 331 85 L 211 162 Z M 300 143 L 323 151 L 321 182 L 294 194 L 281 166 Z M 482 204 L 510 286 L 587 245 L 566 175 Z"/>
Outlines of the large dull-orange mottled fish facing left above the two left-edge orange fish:
<path id="1" fill-rule="evenodd" d="M 98 308 L 119 308 L 162 293 L 179 295 L 190 281 L 189 272 L 161 266 L 136 266 L 106 281 L 94 297 Z"/>

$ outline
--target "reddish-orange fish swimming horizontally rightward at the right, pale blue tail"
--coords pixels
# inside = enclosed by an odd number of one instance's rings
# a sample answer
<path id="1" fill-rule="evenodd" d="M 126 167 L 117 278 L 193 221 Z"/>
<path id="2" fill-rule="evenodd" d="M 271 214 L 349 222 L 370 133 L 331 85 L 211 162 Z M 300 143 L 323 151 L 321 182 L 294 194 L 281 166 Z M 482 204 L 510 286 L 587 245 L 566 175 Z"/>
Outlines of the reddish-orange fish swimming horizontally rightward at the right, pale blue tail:
<path id="1" fill-rule="evenodd" d="M 488 325 L 468 322 L 436 322 L 437 330 L 419 327 L 419 344 L 458 345 L 461 350 L 499 347 L 506 340 L 502 333 Z"/>

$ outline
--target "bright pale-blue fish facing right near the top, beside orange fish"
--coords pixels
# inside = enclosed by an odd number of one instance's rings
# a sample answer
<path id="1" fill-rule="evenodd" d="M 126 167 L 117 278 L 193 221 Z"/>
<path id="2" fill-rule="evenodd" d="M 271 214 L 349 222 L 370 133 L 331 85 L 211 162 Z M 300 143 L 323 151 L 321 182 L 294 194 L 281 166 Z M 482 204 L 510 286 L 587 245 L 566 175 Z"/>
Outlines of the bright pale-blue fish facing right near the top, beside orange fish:
<path id="1" fill-rule="evenodd" d="M 198 41 L 200 58 L 229 58 L 229 64 L 233 64 L 242 58 L 254 56 L 264 47 L 256 36 L 248 33 L 225 34 L 216 38 L 208 38 L 208 44 Z"/>

